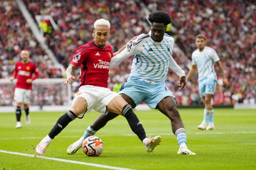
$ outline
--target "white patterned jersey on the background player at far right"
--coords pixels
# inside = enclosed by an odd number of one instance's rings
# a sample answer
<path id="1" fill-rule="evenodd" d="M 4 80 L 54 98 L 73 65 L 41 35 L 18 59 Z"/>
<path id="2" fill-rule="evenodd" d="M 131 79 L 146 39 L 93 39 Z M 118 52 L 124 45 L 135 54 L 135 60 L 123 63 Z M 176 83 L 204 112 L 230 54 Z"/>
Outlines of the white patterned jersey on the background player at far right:
<path id="1" fill-rule="evenodd" d="M 201 52 L 199 49 L 195 50 L 192 53 L 192 65 L 197 65 L 198 80 L 213 78 L 217 81 L 214 64 L 219 60 L 220 58 L 218 57 L 217 52 L 211 47 L 205 46 Z"/>

